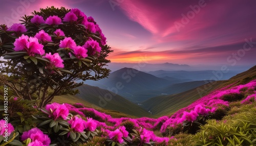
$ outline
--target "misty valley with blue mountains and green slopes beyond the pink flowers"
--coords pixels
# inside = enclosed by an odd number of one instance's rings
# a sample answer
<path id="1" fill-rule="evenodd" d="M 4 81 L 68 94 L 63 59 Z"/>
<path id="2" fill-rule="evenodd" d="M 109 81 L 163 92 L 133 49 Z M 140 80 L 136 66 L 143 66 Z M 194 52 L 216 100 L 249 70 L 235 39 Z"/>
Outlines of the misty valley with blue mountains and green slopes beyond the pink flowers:
<path id="1" fill-rule="evenodd" d="M 242 80 L 243 73 L 230 71 L 221 81 L 210 79 L 212 70 L 148 71 L 124 67 L 99 81 L 86 81 L 78 87 L 79 98 L 93 106 L 137 117 L 169 115 L 188 106 L 209 92 Z M 250 72 L 250 70 L 249 70 Z M 253 71 L 251 71 L 253 72 Z M 248 75 L 248 71 L 244 73 Z M 244 75 L 244 76 L 246 76 Z M 250 75 L 250 78 L 253 75 Z M 124 108 L 126 107 L 126 108 Z"/>

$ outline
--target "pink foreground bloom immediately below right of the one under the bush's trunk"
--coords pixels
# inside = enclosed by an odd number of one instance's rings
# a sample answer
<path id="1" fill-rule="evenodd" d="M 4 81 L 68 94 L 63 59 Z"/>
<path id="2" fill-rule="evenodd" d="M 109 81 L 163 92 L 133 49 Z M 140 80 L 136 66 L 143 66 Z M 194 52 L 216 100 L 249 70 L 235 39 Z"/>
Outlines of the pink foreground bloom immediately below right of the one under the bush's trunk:
<path id="1" fill-rule="evenodd" d="M 83 130 L 86 129 L 84 127 L 84 123 L 86 123 L 86 121 L 84 121 L 82 118 L 78 118 L 77 116 L 71 118 L 68 123 L 71 125 L 71 128 L 75 132 L 83 132 Z"/>

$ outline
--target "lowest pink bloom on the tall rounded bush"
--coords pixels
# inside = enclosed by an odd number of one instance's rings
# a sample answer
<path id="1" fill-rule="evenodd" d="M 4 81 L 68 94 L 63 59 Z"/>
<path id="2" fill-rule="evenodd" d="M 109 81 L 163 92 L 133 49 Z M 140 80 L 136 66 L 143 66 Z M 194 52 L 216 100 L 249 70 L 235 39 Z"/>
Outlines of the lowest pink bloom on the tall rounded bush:
<path id="1" fill-rule="evenodd" d="M 53 55 L 50 53 L 47 53 L 46 56 L 43 58 L 47 58 L 50 60 L 49 68 L 53 67 L 59 67 L 59 68 L 64 68 L 64 64 L 62 63 L 63 60 L 60 58 L 58 53 L 54 53 Z"/>

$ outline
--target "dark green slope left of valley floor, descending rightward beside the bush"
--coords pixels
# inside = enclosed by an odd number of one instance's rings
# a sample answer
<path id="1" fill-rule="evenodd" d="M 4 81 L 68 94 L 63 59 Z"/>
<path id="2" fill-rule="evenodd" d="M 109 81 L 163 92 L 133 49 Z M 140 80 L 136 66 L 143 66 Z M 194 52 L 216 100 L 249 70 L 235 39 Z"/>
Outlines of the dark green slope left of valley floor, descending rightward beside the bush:
<path id="1" fill-rule="evenodd" d="M 115 110 L 136 117 L 151 117 L 145 109 L 134 104 L 122 96 L 110 92 L 109 90 L 100 89 L 90 85 L 82 85 L 78 87 L 80 93 L 77 96 L 97 107 Z"/>

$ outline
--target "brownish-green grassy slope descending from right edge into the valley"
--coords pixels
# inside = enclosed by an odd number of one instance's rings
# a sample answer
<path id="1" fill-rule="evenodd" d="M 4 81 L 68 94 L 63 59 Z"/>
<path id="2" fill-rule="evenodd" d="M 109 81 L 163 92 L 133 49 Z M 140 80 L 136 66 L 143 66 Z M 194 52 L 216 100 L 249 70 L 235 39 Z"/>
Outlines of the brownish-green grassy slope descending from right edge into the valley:
<path id="1" fill-rule="evenodd" d="M 244 71 L 241 74 L 230 78 L 229 80 L 216 81 L 174 95 L 157 96 L 143 102 L 142 104 L 143 107 L 147 110 L 150 110 L 153 115 L 169 115 L 173 114 L 175 111 L 181 108 L 188 106 L 195 100 L 200 99 L 202 96 L 208 94 L 215 89 L 225 87 L 229 84 L 233 84 L 233 86 L 245 84 L 253 79 L 256 79 L 256 66 L 253 66 L 249 70 Z"/>

